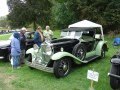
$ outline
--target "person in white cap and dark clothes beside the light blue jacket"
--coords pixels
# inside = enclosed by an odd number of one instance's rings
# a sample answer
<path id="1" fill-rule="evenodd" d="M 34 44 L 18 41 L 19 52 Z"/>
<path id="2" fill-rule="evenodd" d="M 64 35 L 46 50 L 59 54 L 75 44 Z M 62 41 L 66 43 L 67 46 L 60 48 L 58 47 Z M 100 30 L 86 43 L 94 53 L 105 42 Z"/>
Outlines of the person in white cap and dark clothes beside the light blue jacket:
<path id="1" fill-rule="evenodd" d="M 25 49 L 26 49 L 26 37 L 25 37 L 25 32 L 26 28 L 23 27 L 20 31 L 20 49 L 21 49 L 21 54 L 20 54 L 20 65 L 24 64 L 24 59 L 25 59 Z"/>

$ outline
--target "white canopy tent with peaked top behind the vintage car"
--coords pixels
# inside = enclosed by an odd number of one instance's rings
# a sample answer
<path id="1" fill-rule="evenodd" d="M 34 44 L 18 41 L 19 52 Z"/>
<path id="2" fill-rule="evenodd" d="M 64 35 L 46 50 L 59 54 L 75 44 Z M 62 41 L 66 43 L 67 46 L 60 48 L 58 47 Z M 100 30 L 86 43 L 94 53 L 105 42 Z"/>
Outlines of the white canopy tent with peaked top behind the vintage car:
<path id="1" fill-rule="evenodd" d="M 68 28 L 72 28 L 72 27 L 98 27 L 101 30 L 101 34 L 102 34 L 102 39 L 104 40 L 104 36 L 103 36 L 103 28 L 102 25 L 88 21 L 88 20 L 83 20 L 74 24 L 71 24 L 68 26 Z"/>

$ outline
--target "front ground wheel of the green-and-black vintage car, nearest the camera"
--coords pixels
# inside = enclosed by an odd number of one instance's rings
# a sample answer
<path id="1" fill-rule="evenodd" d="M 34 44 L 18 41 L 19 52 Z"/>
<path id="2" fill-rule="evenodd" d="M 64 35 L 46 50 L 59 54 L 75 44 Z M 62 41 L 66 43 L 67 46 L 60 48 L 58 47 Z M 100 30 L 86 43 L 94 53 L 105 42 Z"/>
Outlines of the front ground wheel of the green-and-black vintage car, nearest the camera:
<path id="1" fill-rule="evenodd" d="M 69 74 L 71 70 L 71 60 L 68 60 L 67 58 L 63 58 L 61 60 L 54 61 L 53 68 L 54 68 L 54 75 L 57 78 L 65 77 Z"/>

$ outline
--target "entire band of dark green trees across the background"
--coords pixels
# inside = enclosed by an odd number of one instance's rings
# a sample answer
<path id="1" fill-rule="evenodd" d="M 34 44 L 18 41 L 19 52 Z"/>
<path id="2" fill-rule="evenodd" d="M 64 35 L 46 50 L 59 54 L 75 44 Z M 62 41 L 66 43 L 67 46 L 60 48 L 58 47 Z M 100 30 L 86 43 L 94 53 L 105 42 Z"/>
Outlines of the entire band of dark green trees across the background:
<path id="1" fill-rule="evenodd" d="M 31 23 L 53 28 L 87 19 L 103 25 L 104 32 L 120 28 L 120 0 L 8 0 L 11 26 Z"/>

